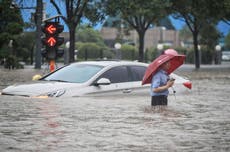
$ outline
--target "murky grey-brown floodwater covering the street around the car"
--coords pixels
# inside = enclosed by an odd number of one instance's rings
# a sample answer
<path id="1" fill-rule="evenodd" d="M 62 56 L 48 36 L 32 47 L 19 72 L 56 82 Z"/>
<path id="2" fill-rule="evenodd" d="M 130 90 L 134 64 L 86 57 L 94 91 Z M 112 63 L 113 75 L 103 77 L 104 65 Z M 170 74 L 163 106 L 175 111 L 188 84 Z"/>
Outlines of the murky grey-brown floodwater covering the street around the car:
<path id="1" fill-rule="evenodd" d="M 37 72 L 1 69 L 0 89 Z M 148 96 L 0 96 L 0 151 L 230 151 L 230 69 L 178 74 L 193 89 L 170 96 L 164 109 L 152 108 Z"/>

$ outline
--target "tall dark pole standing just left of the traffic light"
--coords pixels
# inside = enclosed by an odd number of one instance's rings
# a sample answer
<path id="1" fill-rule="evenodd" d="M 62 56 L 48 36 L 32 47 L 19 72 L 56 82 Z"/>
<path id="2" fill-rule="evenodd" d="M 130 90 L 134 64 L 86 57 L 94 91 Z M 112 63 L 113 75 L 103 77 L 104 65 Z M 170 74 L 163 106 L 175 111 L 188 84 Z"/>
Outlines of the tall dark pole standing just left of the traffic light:
<path id="1" fill-rule="evenodd" d="M 41 48 L 42 48 L 42 42 L 41 42 L 41 25 L 42 25 L 42 9 L 43 3 L 42 0 L 37 0 L 37 8 L 36 8 L 36 17 L 35 17 L 35 23 L 36 23 L 36 53 L 35 53 L 35 69 L 41 69 Z"/>

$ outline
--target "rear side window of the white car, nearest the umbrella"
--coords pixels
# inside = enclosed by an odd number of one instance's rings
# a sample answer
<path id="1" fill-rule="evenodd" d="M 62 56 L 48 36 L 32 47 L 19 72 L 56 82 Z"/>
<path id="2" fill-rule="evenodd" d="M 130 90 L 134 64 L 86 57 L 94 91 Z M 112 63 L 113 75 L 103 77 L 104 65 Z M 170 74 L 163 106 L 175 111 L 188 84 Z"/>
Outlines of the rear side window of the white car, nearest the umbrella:
<path id="1" fill-rule="evenodd" d="M 132 76 L 132 81 L 142 81 L 146 67 L 144 66 L 129 66 Z"/>

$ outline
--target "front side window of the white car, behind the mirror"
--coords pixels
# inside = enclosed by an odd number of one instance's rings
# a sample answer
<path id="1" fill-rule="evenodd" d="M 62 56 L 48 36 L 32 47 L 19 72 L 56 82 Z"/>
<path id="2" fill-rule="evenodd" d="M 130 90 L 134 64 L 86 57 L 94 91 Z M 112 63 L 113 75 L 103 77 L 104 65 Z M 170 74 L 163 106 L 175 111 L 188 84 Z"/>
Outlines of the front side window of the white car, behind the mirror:
<path id="1" fill-rule="evenodd" d="M 111 83 L 128 82 L 128 71 L 125 66 L 114 67 L 103 73 L 100 78 L 107 78 Z"/>

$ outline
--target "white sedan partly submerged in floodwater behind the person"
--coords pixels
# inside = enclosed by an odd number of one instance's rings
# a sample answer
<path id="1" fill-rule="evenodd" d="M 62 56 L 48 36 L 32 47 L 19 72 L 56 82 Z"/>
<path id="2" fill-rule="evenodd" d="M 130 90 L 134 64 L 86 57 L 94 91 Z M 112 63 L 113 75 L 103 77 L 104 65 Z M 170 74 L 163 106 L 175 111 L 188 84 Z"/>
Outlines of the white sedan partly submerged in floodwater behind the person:
<path id="1" fill-rule="evenodd" d="M 15 84 L 2 95 L 25 97 L 77 97 L 149 94 L 150 85 L 141 85 L 148 64 L 131 61 L 85 61 L 61 67 L 38 81 Z M 191 82 L 176 74 L 174 90 L 189 90 Z M 172 92 L 173 90 L 171 90 Z"/>

